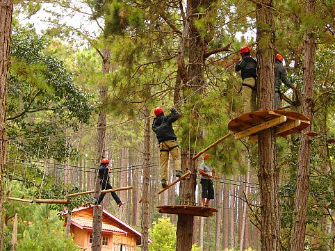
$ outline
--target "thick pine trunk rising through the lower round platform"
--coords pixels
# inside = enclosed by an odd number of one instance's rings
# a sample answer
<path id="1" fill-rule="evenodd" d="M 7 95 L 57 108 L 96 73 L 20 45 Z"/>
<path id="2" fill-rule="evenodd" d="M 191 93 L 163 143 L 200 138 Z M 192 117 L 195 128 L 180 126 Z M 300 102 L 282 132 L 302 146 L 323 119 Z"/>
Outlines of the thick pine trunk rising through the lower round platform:
<path id="1" fill-rule="evenodd" d="M 202 86 L 204 85 L 204 36 L 199 33 L 199 30 L 195 26 L 195 22 L 202 17 L 199 13 L 202 12 L 200 8 L 206 9 L 206 11 L 211 9 L 210 3 L 212 1 L 201 1 L 201 0 L 188 0 L 187 1 L 187 17 L 189 26 L 184 26 L 185 30 L 183 31 L 182 37 L 188 39 L 188 76 L 189 81 L 187 82 L 188 86 L 183 89 L 184 97 L 190 96 L 194 88 L 191 86 Z M 185 19 L 185 21 L 186 21 Z M 187 27 L 189 27 L 189 33 L 187 31 Z M 183 49 L 183 44 L 181 44 L 179 53 L 183 54 L 185 49 Z M 182 56 L 179 55 L 179 59 L 182 60 Z M 183 62 L 179 61 L 178 64 L 179 74 L 185 72 L 185 68 L 183 66 Z M 181 79 L 184 79 L 181 76 Z M 181 81 L 179 79 L 179 81 Z M 179 91 L 175 90 L 175 92 Z M 179 95 L 175 93 L 175 99 L 177 99 Z M 193 96 L 193 102 L 195 102 L 196 97 Z M 198 107 L 193 105 L 193 111 L 190 114 L 190 120 L 197 121 Z M 193 142 L 193 138 L 189 138 L 190 141 Z M 185 151 L 182 151 L 185 152 Z M 195 170 L 195 161 L 193 161 L 190 153 L 193 153 L 193 147 L 190 147 L 190 152 L 188 152 L 188 168 L 190 172 L 196 173 Z M 195 187 L 197 181 L 195 179 L 195 175 L 191 175 L 189 179 L 183 181 L 180 185 L 180 199 L 184 201 L 188 201 L 190 203 L 195 203 Z M 193 218 L 194 216 L 186 216 L 179 215 L 178 223 L 177 223 L 177 251 L 190 251 L 192 249 L 192 239 L 193 239 Z"/>

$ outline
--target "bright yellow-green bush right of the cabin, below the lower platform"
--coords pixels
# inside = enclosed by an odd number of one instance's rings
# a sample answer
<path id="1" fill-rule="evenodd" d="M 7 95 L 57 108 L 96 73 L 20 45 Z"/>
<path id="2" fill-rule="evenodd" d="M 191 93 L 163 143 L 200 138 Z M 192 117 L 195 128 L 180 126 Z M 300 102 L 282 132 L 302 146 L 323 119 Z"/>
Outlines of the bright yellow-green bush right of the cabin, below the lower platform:
<path id="1" fill-rule="evenodd" d="M 159 218 L 149 229 L 150 238 L 154 243 L 149 243 L 150 251 L 174 251 L 176 250 L 177 228 L 172 225 L 170 218 Z"/>

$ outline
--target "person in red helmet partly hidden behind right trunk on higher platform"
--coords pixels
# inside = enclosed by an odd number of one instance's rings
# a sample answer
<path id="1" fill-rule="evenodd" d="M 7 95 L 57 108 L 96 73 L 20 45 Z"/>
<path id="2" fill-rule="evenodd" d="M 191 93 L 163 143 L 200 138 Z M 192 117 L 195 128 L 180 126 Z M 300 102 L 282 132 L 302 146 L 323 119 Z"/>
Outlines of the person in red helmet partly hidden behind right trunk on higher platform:
<path id="1" fill-rule="evenodd" d="M 293 85 L 290 79 L 287 78 L 286 69 L 283 65 L 283 56 L 277 54 L 275 56 L 275 109 L 278 108 L 278 96 L 280 92 L 281 82 L 284 83 L 285 86 L 291 89 L 297 89 L 297 85 Z"/>

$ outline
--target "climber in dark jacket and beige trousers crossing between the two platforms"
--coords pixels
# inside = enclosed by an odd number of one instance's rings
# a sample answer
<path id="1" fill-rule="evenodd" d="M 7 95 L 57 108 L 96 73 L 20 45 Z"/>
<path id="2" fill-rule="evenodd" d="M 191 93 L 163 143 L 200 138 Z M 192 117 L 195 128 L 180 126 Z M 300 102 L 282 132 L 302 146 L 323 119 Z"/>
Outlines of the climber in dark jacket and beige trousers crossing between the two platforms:
<path id="1" fill-rule="evenodd" d="M 172 106 L 169 107 L 171 113 L 164 115 L 163 108 L 156 107 L 154 114 L 154 122 L 152 122 L 152 131 L 156 133 L 159 144 L 159 162 L 161 165 L 162 187 L 168 186 L 168 161 L 169 154 L 171 154 L 174 161 L 174 170 L 176 177 L 179 178 L 183 173 L 181 172 L 181 152 L 177 143 L 177 136 L 174 134 L 172 123 L 180 117 L 178 111 Z"/>

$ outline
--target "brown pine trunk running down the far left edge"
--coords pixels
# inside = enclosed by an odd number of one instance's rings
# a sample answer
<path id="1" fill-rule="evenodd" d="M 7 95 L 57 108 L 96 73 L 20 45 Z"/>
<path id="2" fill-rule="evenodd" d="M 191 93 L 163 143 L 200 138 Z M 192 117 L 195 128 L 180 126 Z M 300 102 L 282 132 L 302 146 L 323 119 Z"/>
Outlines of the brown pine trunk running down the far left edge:
<path id="1" fill-rule="evenodd" d="M 12 26 L 13 1 L 0 1 L 0 250 L 3 250 L 3 222 L 5 191 L 3 187 L 3 168 L 6 166 L 7 135 L 6 135 L 6 104 L 7 74 L 10 68 L 10 36 Z"/>

